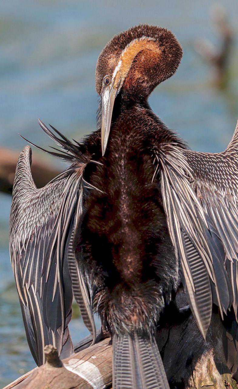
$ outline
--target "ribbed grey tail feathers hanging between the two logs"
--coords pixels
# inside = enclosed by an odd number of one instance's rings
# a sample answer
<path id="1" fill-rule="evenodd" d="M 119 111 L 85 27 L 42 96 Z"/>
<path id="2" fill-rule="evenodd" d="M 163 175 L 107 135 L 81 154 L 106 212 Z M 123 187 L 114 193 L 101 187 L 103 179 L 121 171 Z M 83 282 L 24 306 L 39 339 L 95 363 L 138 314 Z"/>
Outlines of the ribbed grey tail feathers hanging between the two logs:
<path id="1" fill-rule="evenodd" d="M 169 389 L 155 338 L 113 335 L 113 389 Z"/>

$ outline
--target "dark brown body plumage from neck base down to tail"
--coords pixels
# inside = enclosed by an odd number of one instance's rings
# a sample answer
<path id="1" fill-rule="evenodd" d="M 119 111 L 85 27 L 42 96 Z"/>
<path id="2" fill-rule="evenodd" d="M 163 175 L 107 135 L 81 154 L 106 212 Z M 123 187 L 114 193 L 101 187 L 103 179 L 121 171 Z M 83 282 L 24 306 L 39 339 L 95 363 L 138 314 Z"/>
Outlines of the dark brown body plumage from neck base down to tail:
<path id="1" fill-rule="evenodd" d="M 178 264 L 158 180 L 151 182 L 155 172 L 151 145 L 171 139 L 175 135 L 150 117 L 144 104 L 143 109 L 123 110 L 112 124 L 104 157 L 98 142 L 90 145 L 103 165 L 88 165 L 83 178 L 100 192 L 85 193 L 87 213 L 75 238 L 76 258 L 95 285 L 94 306 L 98 303 L 103 324 L 118 333 L 123 321 L 128 329 L 149 335 L 164 299 L 169 302 L 178 286 Z"/>

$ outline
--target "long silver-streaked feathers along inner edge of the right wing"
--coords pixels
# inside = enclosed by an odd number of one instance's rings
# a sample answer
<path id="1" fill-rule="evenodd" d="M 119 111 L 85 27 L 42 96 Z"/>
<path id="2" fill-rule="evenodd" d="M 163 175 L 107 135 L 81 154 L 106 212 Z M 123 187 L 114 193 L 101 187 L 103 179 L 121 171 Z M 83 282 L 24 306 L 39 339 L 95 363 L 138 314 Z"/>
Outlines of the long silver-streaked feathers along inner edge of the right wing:
<path id="1" fill-rule="evenodd" d="M 191 172 L 181 149 L 176 144 L 166 144 L 156 159 L 161 167 L 161 190 L 170 237 L 181 263 L 191 310 L 205 337 L 212 314 L 210 280 L 217 290 L 212 255 L 205 237 L 207 220 L 191 188 L 188 179 Z"/>

